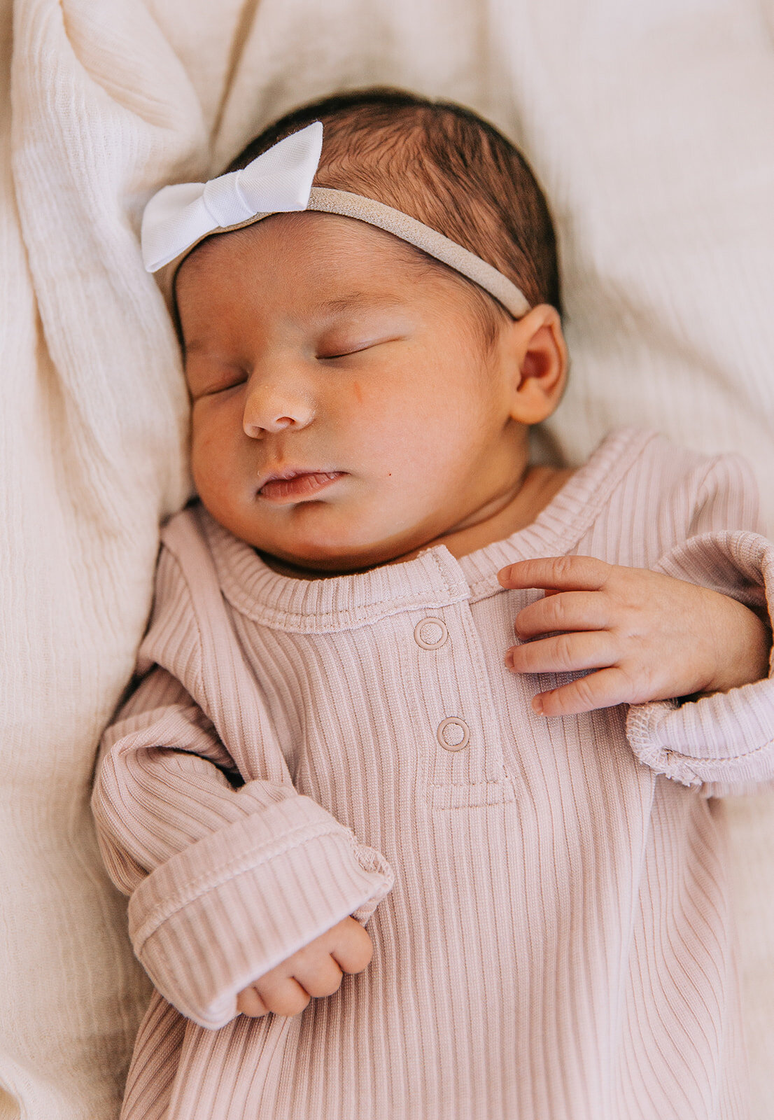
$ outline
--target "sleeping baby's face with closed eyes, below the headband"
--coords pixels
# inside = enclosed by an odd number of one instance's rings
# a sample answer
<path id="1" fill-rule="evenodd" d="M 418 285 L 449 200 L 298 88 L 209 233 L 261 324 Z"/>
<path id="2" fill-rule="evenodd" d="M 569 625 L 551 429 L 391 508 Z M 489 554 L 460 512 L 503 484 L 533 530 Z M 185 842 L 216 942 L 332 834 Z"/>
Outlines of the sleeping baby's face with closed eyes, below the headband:
<path id="1" fill-rule="evenodd" d="M 395 560 L 525 466 L 504 345 L 464 281 L 390 234 L 277 215 L 199 246 L 177 301 L 196 488 L 262 552 L 321 572 Z"/>

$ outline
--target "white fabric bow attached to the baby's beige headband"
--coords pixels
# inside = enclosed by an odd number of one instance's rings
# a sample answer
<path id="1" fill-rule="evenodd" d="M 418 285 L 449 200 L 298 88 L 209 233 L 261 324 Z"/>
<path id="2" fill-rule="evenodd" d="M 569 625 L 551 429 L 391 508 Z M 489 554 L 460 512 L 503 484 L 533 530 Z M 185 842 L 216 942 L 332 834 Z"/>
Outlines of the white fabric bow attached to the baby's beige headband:
<path id="1" fill-rule="evenodd" d="M 280 140 L 240 171 L 162 187 L 142 215 L 142 262 L 157 272 L 208 233 L 257 214 L 302 211 L 323 150 L 319 121 Z"/>

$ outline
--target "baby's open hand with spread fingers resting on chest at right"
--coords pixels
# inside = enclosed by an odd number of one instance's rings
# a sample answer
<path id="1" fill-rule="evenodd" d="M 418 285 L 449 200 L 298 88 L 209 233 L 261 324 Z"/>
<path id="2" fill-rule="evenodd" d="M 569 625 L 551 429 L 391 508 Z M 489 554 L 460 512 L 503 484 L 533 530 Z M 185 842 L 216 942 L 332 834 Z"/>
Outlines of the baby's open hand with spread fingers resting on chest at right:
<path id="1" fill-rule="evenodd" d="M 516 615 L 520 638 L 554 634 L 509 650 L 509 669 L 597 670 L 534 697 L 532 707 L 544 716 L 726 692 L 768 673 L 768 627 L 706 587 L 591 557 L 523 560 L 498 579 L 507 588 L 545 589 Z"/>

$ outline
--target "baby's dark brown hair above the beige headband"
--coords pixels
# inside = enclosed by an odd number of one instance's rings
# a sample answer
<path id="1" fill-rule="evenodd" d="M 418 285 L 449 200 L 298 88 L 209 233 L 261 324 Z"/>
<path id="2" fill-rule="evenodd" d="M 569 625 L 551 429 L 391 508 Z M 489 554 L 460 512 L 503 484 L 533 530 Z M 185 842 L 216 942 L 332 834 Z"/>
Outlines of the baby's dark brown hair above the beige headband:
<path id="1" fill-rule="evenodd" d="M 561 310 L 548 204 L 526 160 L 492 124 L 451 102 L 386 87 L 355 90 L 287 113 L 229 170 L 245 167 L 313 121 L 324 129 L 316 187 L 349 190 L 402 211 L 493 264 L 532 307 L 551 304 Z M 491 310 L 500 310 L 473 287 Z"/>

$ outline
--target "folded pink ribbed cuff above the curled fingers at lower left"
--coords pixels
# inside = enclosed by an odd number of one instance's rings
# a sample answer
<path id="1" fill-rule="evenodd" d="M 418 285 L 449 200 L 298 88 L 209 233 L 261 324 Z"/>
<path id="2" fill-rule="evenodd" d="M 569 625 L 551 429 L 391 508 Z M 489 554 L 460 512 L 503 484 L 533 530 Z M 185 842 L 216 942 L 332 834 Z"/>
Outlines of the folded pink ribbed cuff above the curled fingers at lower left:
<path id="1" fill-rule="evenodd" d="M 365 923 L 392 881 L 377 851 L 293 796 L 160 865 L 130 899 L 130 936 L 161 995 L 216 1028 L 258 977 L 342 918 Z"/>

